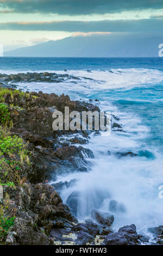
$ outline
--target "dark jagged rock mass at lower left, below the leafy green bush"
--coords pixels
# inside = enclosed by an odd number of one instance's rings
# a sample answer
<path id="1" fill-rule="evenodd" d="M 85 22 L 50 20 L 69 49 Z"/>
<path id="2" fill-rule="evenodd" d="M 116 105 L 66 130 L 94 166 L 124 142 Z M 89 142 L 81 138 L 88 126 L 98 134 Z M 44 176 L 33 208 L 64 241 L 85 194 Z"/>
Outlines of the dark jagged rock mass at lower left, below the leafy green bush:
<path id="1" fill-rule="evenodd" d="M 10 230 L 14 245 L 48 245 L 48 234 L 55 222 L 62 227 L 77 223 L 67 205 L 62 203 L 53 186 L 46 184 L 24 184 L 19 190 L 5 187 L 4 193 L 10 194 L 10 211 L 15 213 L 15 224 Z M 13 210 L 12 210 L 13 209 Z M 10 238 L 10 239 L 9 239 Z M 7 241 L 11 237 L 7 237 Z M 8 242 L 7 242 L 8 243 Z"/>

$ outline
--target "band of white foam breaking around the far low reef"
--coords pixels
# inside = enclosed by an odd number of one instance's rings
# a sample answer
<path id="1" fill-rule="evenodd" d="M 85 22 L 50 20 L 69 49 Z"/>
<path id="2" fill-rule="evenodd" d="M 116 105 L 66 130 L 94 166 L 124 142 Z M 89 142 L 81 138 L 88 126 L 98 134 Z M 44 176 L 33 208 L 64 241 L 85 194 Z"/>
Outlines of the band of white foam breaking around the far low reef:
<path id="1" fill-rule="evenodd" d="M 40 70 L 37 72 L 44 72 L 45 70 Z M 33 71 L 19 71 L 19 72 L 33 72 Z M 147 84 L 156 84 L 163 80 L 163 72 L 156 69 L 111 69 L 111 70 L 92 70 L 87 72 L 85 70 L 70 70 L 70 71 L 55 71 L 48 70 L 48 72 L 56 72 L 57 74 L 69 74 L 80 77 L 81 80 L 77 81 L 77 86 L 71 81 L 66 81 L 70 86 L 74 87 L 74 90 L 79 87 L 85 86 L 87 89 L 91 90 L 104 90 L 104 89 L 118 89 L 118 88 L 133 88 L 139 86 L 146 86 Z M 0 73 L 5 74 L 17 74 L 16 71 L 10 70 L 0 70 Z M 84 77 L 92 78 L 93 80 L 86 80 Z M 62 82 L 65 84 L 65 82 Z M 42 83 L 41 83 L 42 84 Z M 40 86 L 41 86 L 40 84 Z M 100 86 L 99 86 L 100 84 Z M 55 87 L 57 85 L 55 84 Z M 52 90 L 52 84 L 47 84 L 46 86 L 41 86 L 43 90 L 49 88 Z M 58 84 L 57 88 L 60 87 Z"/>

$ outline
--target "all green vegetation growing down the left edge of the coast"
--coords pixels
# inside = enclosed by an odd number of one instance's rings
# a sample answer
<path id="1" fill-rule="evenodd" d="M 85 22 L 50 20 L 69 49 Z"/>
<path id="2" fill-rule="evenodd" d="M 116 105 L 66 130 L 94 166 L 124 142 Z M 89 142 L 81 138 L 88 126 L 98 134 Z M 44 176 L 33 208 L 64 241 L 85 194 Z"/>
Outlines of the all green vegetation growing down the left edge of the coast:
<path id="1" fill-rule="evenodd" d="M 37 98 L 20 90 L 0 87 L 0 186 L 5 186 L 9 191 L 24 186 L 27 182 L 26 173 L 30 168 L 28 143 L 10 130 L 13 124 L 10 113 L 13 108 L 23 110 L 21 103 L 26 102 L 25 97 L 31 97 L 33 101 Z M 0 199 L 0 245 L 14 225 L 15 217 L 10 206 L 9 195 L 5 193 L 3 202 Z"/>

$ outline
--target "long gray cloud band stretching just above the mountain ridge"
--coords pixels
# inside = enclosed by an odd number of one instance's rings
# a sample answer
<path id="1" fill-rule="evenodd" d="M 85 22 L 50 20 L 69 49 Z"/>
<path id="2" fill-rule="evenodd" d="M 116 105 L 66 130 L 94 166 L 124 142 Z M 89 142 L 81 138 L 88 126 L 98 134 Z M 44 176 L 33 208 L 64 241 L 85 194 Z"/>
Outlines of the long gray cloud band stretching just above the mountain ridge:
<path id="1" fill-rule="evenodd" d="M 163 19 L 116 20 L 116 21 L 53 21 L 0 23 L 0 29 L 21 31 L 67 31 L 67 32 L 139 32 L 160 33 Z"/>

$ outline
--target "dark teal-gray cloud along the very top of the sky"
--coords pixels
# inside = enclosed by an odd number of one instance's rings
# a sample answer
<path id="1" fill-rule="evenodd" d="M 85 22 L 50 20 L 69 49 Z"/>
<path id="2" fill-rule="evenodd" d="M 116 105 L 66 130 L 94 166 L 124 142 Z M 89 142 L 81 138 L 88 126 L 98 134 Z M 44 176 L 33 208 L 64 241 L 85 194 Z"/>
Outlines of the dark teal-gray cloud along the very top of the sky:
<path id="1" fill-rule="evenodd" d="M 162 0 L 0 0 L 0 7 L 15 13 L 104 14 L 123 10 L 163 8 Z"/>

